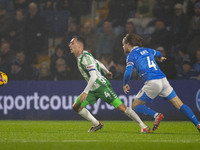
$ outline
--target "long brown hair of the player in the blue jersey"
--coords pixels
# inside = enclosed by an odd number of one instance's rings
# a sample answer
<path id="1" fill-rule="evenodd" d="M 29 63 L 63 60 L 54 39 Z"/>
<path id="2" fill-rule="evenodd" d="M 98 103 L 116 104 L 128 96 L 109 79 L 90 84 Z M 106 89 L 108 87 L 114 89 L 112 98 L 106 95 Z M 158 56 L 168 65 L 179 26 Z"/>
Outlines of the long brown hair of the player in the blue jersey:
<path id="1" fill-rule="evenodd" d="M 140 46 L 142 47 L 142 37 L 135 33 L 128 33 L 124 37 L 124 42 L 127 44 L 129 43 L 131 46 Z"/>

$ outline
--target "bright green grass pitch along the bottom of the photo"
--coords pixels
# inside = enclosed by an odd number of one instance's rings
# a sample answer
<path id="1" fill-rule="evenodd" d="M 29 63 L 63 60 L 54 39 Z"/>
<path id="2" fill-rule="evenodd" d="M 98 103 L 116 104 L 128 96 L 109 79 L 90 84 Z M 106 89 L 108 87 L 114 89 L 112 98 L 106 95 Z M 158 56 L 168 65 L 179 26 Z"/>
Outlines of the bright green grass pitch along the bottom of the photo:
<path id="1" fill-rule="evenodd" d="M 163 121 L 150 134 L 141 134 L 131 121 L 103 123 L 102 130 L 88 133 L 87 121 L 0 121 L 0 150 L 200 149 L 200 133 L 191 122 Z"/>

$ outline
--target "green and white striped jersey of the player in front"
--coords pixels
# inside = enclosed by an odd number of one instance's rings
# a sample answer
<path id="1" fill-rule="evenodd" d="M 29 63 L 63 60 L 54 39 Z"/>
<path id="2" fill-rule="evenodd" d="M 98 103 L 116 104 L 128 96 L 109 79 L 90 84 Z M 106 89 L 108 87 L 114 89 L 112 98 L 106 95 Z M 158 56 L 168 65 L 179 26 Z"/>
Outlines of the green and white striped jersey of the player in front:
<path id="1" fill-rule="evenodd" d="M 89 72 L 92 70 L 96 71 L 97 79 L 90 89 L 91 91 L 98 89 L 102 84 L 106 83 L 107 79 L 101 74 L 98 61 L 89 52 L 83 51 L 81 55 L 77 57 L 77 66 L 81 75 L 87 82 L 90 79 Z"/>

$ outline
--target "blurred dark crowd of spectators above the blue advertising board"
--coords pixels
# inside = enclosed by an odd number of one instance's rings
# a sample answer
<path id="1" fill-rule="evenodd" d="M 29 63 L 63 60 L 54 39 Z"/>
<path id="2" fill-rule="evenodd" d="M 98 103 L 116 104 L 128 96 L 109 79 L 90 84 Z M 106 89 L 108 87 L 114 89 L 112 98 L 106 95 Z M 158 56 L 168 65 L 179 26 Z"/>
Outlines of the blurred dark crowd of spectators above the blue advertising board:
<path id="1" fill-rule="evenodd" d="M 104 2 L 108 13 L 93 26 L 92 0 L 0 0 L 0 71 L 9 80 L 82 79 L 68 47 L 80 35 L 85 50 L 121 80 L 122 39 L 137 33 L 144 47 L 167 58 L 158 65 L 168 79 L 200 80 L 200 0 L 96 2 Z M 46 55 L 49 62 L 38 62 Z M 135 71 L 133 79 L 139 79 Z"/>

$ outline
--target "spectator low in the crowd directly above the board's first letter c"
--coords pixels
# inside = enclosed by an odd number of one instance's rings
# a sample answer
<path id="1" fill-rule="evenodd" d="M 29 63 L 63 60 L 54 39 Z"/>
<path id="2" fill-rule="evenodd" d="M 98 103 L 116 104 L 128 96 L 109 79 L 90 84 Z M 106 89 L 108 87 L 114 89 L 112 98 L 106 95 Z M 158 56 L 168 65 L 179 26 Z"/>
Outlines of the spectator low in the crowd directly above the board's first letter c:
<path id="1" fill-rule="evenodd" d="M 53 76 L 50 72 L 50 67 L 47 62 L 42 62 L 39 68 L 38 80 L 53 80 Z"/>

